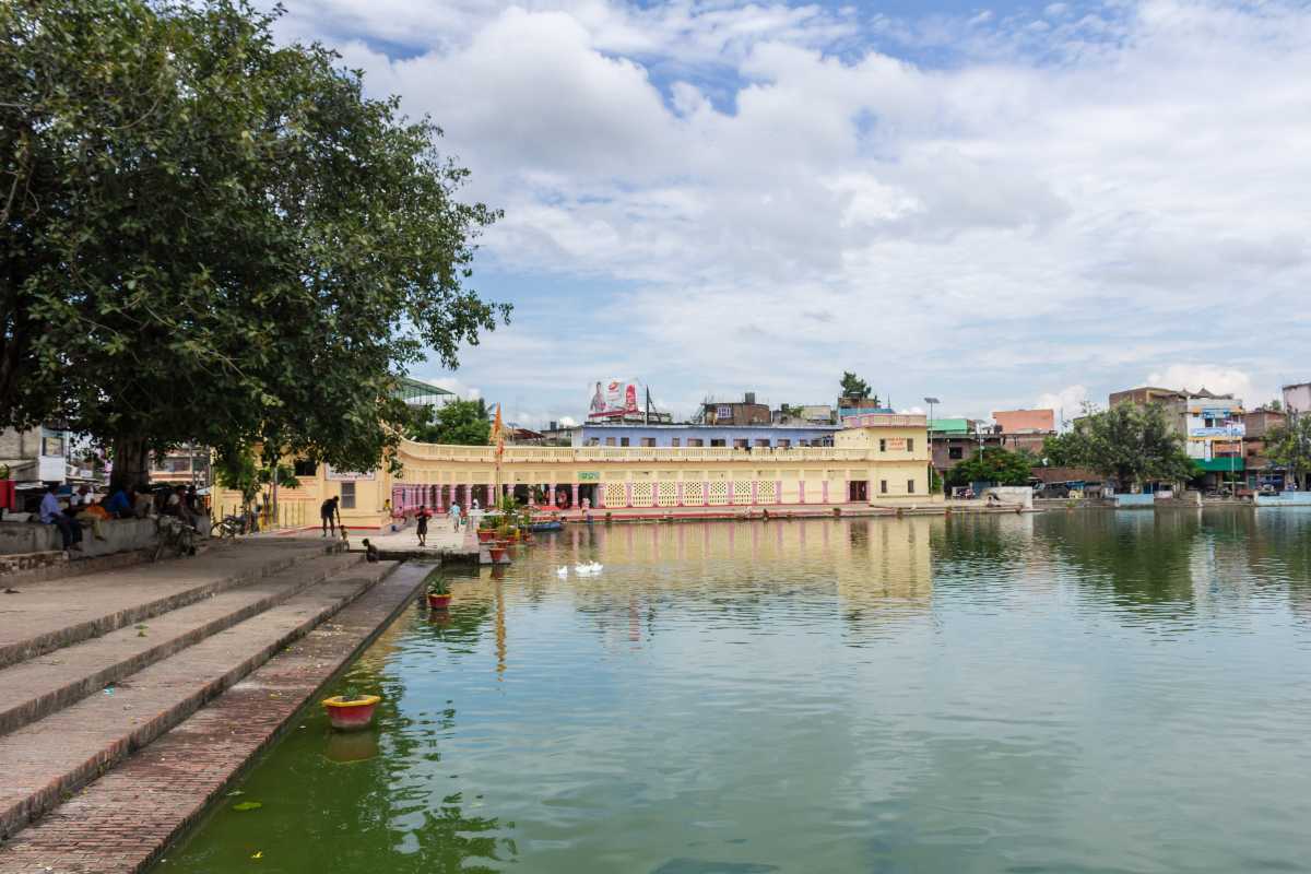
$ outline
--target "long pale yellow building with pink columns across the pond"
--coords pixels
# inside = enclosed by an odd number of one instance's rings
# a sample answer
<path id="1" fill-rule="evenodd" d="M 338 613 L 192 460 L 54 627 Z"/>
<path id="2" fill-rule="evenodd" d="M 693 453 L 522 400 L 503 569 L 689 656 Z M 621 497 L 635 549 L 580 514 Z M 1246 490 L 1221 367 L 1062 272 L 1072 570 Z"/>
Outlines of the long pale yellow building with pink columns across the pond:
<path id="1" fill-rule="evenodd" d="M 319 465 L 283 489 L 279 504 L 316 524 L 320 503 L 341 495 L 345 524 L 376 528 L 389 511 L 452 501 L 488 506 L 496 493 L 536 503 L 591 507 L 616 515 L 661 510 L 674 515 L 714 507 L 808 508 L 815 504 L 911 506 L 929 494 L 923 415 L 868 414 L 838 431 L 832 447 L 505 447 L 440 446 L 402 440 L 402 473 L 353 473 Z M 235 493 L 216 503 L 233 506 Z M 286 510 L 283 511 L 286 512 Z"/>

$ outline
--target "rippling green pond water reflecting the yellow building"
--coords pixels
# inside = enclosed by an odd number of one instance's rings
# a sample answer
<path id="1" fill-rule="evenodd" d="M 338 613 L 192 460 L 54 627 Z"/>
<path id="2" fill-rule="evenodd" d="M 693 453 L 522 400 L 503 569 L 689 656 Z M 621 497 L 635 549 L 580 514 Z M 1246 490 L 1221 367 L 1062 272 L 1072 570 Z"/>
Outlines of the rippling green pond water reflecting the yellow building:
<path id="1" fill-rule="evenodd" d="M 157 871 L 1311 870 L 1308 574 L 1299 510 L 572 528 Z"/>

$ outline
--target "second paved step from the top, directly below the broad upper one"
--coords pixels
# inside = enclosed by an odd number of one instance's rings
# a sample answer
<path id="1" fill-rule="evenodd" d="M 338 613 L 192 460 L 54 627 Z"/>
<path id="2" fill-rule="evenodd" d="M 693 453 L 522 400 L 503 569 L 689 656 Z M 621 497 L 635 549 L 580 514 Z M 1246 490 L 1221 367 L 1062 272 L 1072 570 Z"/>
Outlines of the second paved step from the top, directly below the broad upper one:
<path id="1" fill-rule="evenodd" d="M 315 556 L 262 579 L 205 598 L 101 637 L 0 668 L 0 735 L 43 719 L 111 683 L 279 604 L 359 563 L 361 556 Z"/>

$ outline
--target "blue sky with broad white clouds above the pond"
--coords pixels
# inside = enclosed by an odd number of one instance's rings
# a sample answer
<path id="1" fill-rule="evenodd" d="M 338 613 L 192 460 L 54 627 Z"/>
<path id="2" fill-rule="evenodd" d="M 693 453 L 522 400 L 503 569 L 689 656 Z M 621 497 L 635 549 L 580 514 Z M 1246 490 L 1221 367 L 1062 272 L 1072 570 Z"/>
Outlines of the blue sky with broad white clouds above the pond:
<path id="1" fill-rule="evenodd" d="M 1311 4 L 290 0 L 505 211 L 509 326 L 414 376 L 1078 413 L 1311 380 Z"/>

